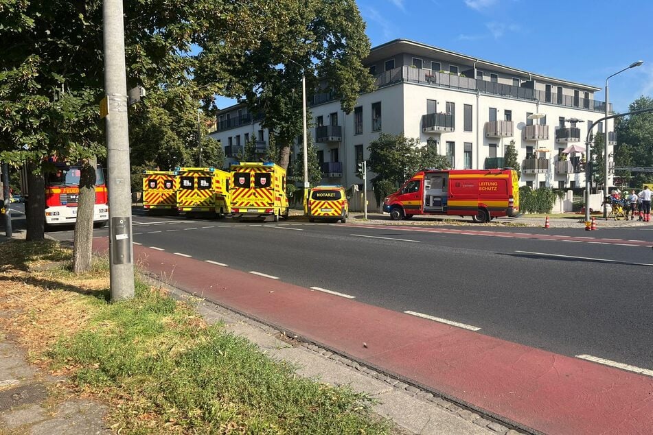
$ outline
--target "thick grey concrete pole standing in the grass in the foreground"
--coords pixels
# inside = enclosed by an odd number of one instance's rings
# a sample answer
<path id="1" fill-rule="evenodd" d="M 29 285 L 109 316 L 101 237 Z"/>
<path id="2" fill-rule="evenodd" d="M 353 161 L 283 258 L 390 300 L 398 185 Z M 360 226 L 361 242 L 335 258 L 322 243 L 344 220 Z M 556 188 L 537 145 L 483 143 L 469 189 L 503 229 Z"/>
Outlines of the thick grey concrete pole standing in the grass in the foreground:
<path id="1" fill-rule="evenodd" d="M 104 88 L 111 301 L 134 297 L 127 80 L 122 0 L 104 0 Z"/>

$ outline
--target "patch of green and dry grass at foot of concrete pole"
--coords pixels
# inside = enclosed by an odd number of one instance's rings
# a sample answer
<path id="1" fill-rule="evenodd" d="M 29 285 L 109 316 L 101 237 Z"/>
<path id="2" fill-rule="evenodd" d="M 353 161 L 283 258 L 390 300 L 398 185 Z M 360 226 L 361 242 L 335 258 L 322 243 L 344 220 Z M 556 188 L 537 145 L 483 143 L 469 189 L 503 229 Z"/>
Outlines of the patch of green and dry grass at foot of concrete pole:
<path id="1" fill-rule="evenodd" d="M 295 375 L 140 282 L 133 300 L 104 303 L 87 329 L 62 338 L 49 356 L 77 366 L 80 386 L 121 403 L 114 429 L 122 432 L 390 432 L 369 412 L 368 397 Z"/>

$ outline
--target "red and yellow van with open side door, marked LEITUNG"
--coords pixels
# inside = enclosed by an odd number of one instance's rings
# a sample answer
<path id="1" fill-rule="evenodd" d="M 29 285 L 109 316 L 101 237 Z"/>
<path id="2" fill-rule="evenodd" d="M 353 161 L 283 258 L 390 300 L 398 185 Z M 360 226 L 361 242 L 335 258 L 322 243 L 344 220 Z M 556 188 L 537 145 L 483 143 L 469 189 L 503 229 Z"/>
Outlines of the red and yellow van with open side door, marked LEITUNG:
<path id="1" fill-rule="evenodd" d="M 519 212 L 519 185 L 512 169 L 426 169 L 383 200 L 392 220 L 413 215 L 471 216 L 489 222 Z"/>

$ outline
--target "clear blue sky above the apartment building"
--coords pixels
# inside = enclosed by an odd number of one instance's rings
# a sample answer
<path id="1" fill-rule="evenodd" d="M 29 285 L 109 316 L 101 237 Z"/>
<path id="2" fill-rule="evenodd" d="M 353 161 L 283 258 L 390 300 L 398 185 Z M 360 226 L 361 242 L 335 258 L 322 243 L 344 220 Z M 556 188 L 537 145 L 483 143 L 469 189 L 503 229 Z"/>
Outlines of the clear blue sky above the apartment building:
<path id="1" fill-rule="evenodd" d="M 619 112 L 653 97 L 652 0 L 356 0 L 372 47 L 404 38 L 604 88 Z M 603 91 L 595 94 L 604 100 Z M 218 107 L 231 104 L 218 99 Z"/>

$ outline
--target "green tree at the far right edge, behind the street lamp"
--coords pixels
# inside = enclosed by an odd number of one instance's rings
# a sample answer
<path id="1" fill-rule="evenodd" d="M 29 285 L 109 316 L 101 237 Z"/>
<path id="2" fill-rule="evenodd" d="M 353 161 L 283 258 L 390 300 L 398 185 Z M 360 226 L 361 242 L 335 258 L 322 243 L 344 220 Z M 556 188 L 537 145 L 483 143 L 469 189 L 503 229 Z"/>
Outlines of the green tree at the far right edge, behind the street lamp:
<path id="1" fill-rule="evenodd" d="M 653 98 L 641 96 L 628 106 L 628 111 L 653 108 Z M 653 113 L 641 113 L 625 117 L 617 124 L 617 147 L 615 165 L 653 167 Z M 625 148 L 622 151 L 622 148 Z M 650 172 L 634 172 L 630 186 L 641 188 L 652 183 Z"/>

